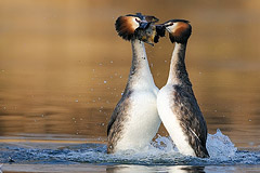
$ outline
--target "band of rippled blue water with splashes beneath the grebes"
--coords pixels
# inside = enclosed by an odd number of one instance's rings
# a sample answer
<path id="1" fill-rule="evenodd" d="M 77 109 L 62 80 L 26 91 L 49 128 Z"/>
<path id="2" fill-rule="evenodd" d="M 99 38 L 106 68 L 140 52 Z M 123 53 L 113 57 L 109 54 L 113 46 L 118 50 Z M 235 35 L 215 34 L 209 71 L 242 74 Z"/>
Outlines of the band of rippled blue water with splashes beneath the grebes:
<path id="1" fill-rule="evenodd" d="M 169 137 L 158 136 L 155 142 L 140 150 L 127 150 L 114 155 L 106 154 L 104 144 L 82 144 L 61 149 L 22 148 L 2 146 L 0 162 L 12 159 L 16 163 L 100 163 L 100 164 L 144 164 L 144 165 L 234 165 L 260 164 L 260 151 L 237 150 L 220 130 L 209 134 L 207 149 L 210 158 L 202 159 L 178 152 Z"/>

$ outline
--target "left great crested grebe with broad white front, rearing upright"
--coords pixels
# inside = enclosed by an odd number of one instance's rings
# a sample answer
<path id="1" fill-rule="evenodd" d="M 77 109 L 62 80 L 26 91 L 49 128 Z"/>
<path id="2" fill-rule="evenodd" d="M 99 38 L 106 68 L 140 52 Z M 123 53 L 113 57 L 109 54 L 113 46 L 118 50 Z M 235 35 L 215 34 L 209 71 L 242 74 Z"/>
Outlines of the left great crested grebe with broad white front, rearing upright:
<path id="1" fill-rule="evenodd" d="M 156 36 L 153 24 L 157 21 L 141 13 L 120 16 L 116 21 L 118 35 L 132 44 L 132 65 L 122 97 L 107 127 L 108 154 L 146 146 L 161 123 L 156 105 L 158 88 L 144 46 L 144 42 L 153 44 Z"/>

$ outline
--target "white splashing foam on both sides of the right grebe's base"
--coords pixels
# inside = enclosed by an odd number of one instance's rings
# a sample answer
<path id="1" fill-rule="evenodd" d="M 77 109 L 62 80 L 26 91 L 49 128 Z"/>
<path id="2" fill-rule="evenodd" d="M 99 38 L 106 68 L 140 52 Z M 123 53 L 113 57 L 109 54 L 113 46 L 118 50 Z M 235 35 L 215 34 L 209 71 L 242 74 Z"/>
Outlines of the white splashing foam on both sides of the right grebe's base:
<path id="1" fill-rule="evenodd" d="M 210 156 L 210 160 L 218 160 L 218 161 L 225 161 L 230 160 L 231 158 L 235 158 L 237 148 L 231 142 L 229 136 L 221 133 L 218 129 L 216 134 L 208 134 L 207 138 L 207 149 Z M 182 156 L 178 148 L 176 147 L 174 143 L 170 138 L 170 136 L 160 136 L 158 137 L 148 146 L 144 148 L 140 148 L 139 150 L 128 150 L 123 152 L 119 152 L 116 156 L 118 158 L 125 158 L 128 156 L 128 159 L 133 158 L 150 158 L 150 157 L 161 157 L 161 158 L 172 158 Z M 167 156 L 166 156 L 167 155 Z M 184 157 L 184 156 L 182 156 Z"/>

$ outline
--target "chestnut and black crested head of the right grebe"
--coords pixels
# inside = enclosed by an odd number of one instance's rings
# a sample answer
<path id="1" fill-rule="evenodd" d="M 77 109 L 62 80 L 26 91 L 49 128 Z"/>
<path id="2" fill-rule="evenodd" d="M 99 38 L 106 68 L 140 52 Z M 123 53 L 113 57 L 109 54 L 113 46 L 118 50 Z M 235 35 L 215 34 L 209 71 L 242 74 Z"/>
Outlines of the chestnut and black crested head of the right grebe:
<path id="1" fill-rule="evenodd" d="M 192 35 L 192 26 L 185 19 L 170 19 L 164 24 L 171 42 L 186 43 Z"/>

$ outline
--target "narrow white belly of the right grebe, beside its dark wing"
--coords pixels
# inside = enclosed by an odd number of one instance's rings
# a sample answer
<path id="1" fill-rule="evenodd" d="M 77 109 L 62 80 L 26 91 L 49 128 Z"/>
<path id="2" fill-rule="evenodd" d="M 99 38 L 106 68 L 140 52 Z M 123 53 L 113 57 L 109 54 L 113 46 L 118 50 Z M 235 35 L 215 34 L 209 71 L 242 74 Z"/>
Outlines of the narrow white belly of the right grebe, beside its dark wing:
<path id="1" fill-rule="evenodd" d="M 183 155 L 196 156 L 188 144 L 186 134 L 182 131 L 180 121 L 172 111 L 172 109 L 174 109 L 174 107 L 171 107 L 171 103 L 173 102 L 171 97 L 172 90 L 173 88 L 171 85 L 165 85 L 160 89 L 157 95 L 157 109 L 159 117 L 179 151 Z"/>

